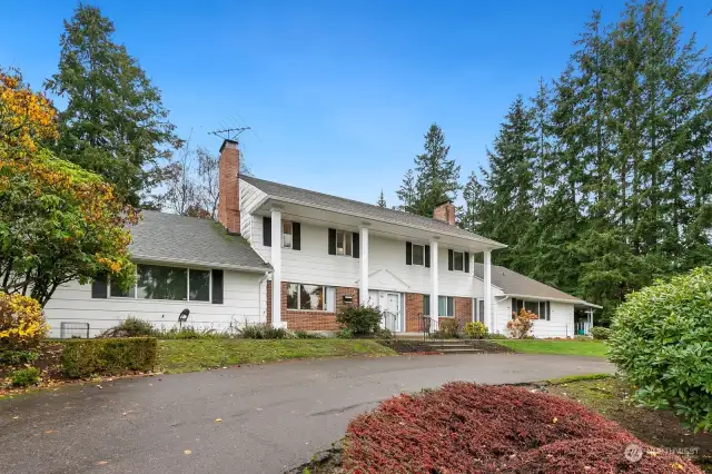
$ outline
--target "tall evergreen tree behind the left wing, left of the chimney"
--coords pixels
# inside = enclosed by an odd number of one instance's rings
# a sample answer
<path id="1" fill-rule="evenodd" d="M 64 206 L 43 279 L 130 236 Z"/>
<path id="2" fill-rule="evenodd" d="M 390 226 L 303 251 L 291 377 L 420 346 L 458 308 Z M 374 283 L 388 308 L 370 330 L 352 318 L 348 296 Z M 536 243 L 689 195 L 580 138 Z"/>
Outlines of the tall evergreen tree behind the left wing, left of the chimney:
<path id="1" fill-rule="evenodd" d="M 164 179 L 161 164 L 180 140 L 160 91 L 113 31 L 98 8 L 80 4 L 65 21 L 59 71 L 46 87 L 68 100 L 56 151 L 138 205 Z"/>

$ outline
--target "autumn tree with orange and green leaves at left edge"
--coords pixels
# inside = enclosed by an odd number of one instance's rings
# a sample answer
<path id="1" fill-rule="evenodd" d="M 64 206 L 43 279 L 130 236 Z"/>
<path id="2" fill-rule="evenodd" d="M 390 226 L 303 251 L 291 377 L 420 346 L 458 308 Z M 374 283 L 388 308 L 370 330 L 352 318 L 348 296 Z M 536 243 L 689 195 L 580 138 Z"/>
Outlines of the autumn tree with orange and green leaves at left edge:
<path id="1" fill-rule="evenodd" d="M 109 274 L 130 285 L 137 213 L 92 172 L 41 142 L 57 137 L 55 110 L 19 75 L 0 76 L 0 288 L 44 306 L 61 284 Z"/>

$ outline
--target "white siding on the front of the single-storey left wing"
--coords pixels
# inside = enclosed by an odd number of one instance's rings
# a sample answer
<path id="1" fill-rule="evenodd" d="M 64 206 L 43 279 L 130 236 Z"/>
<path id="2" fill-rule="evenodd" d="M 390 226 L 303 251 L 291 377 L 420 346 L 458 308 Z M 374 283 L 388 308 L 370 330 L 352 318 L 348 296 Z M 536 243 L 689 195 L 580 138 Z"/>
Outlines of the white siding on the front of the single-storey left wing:
<path id="1" fill-rule="evenodd" d="M 260 280 L 263 274 L 228 271 L 224 274 L 224 303 L 167 302 L 136 298 L 92 298 L 91 285 L 72 282 L 57 288 L 44 307 L 50 337 L 60 336 L 60 323 L 89 323 L 90 336 L 116 326 L 128 316 L 149 320 L 156 327 L 178 324 L 184 308 L 190 309 L 186 325 L 199 328 L 227 329 L 230 322 L 245 324 L 265 322 L 260 317 Z"/>

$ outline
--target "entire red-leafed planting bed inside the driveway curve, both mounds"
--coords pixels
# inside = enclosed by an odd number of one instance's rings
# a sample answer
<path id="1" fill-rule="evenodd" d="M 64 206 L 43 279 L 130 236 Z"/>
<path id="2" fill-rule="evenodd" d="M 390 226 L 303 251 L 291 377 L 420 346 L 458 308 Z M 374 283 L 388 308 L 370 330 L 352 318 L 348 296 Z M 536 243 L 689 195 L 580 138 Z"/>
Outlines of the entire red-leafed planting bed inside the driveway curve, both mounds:
<path id="1" fill-rule="evenodd" d="M 562 396 L 453 383 L 357 416 L 343 448 L 291 472 L 702 473 L 664 447 Z"/>

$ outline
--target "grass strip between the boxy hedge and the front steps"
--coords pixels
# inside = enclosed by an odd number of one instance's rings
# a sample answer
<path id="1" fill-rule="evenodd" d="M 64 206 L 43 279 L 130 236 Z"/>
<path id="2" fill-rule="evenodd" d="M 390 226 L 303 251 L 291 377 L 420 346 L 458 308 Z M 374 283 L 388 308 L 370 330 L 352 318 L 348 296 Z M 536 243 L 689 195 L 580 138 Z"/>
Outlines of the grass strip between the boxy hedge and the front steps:
<path id="1" fill-rule="evenodd" d="M 363 339 L 167 339 L 158 342 L 158 367 L 166 373 L 204 371 L 290 358 L 389 356 L 396 353 Z"/>

